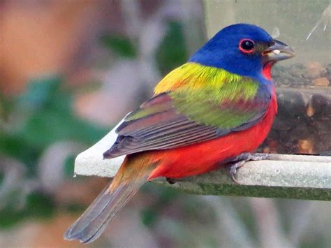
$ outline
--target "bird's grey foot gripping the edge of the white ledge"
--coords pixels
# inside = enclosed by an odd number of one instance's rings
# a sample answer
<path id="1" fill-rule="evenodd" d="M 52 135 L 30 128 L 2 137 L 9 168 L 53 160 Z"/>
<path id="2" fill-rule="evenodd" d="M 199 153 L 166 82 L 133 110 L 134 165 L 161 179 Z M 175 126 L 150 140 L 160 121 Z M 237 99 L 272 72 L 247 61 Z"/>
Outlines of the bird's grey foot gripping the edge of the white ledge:
<path id="1" fill-rule="evenodd" d="M 257 160 L 265 160 L 269 158 L 269 154 L 262 154 L 262 153 L 249 153 L 249 152 L 245 152 L 242 153 L 238 156 L 235 156 L 234 158 L 231 158 L 227 161 L 225 161 L 226 163 L 230 163 L 230 170 L 229 170 L 229 174 L 231 179 L 233 180 L 233 182 L 235 182 L 236 184 L 239 184 L 238 181 L 235 179 L 235 173 L 237 173 L 237 170 L 239 168 L 241 168 L 242 166 L 244 166 L 244 164 L 247 161 L 257 161 Z"/>

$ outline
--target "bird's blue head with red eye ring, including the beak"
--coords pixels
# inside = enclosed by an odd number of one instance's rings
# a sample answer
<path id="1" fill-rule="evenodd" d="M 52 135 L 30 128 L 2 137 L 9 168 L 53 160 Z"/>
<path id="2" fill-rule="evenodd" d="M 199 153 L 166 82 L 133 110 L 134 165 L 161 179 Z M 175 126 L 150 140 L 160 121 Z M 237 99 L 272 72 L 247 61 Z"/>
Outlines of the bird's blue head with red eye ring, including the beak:
<path id="1" fill-rule="evenodd" d="M 219 31 L 189 59 L 204 66 L 251 78 L 270 79 L 272 65 L 294 56 L 288 45 L 253 24 L 233 24 Z"/>

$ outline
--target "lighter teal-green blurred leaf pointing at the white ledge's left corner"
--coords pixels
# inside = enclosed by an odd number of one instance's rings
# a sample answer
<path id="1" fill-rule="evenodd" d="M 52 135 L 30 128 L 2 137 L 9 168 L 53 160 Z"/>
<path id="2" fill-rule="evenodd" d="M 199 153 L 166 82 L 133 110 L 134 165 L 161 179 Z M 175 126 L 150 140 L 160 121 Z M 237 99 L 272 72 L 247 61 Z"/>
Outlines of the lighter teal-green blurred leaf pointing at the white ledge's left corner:
<path id="1" fill-rule="evenodd" d="M 71 110 L 71 94 L 61 89 L 61 77 L 34 80 L 21 105 L 34 105 L 26 124 L 18 132 L 20 139 L 43 150 L 57 140 L 77 140 L 92 144 L 108 130 L 79 119 Z"/>

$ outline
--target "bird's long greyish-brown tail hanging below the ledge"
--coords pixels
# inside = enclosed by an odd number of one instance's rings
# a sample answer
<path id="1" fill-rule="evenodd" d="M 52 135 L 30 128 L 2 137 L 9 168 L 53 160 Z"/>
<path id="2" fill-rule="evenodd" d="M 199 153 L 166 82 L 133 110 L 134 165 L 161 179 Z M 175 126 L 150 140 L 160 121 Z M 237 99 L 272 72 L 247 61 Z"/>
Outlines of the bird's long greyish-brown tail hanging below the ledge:
<path id="1" fill-rule="evenodd" d="M 64 233 L 66 240 L 80 240 L 88 243 L 96 240 L 109 221 L 138 191 L 156 167 L 156 162 L 144 156 L 129 155 L 122 163 L 114 180 L 87 208 L 82 216 Z"/>

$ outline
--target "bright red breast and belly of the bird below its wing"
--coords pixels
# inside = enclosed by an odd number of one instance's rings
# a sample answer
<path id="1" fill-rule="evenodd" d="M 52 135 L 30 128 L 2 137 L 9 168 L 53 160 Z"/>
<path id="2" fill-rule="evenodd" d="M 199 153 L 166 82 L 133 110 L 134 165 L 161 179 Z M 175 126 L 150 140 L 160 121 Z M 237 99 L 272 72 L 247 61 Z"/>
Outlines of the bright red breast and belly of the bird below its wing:
<path id="1" fill-rule="evenodd" d="M 220 161 L 243 152 L 253 152 L 265 140 L 276 114 L 277 98 L 273 89 L 272 100 L 265 116 L 251 128 L 195 145 L 148 152 L 153 161 L 159 161 L 159 166 L 149 175 L 149 180 L 156 177 L 199 175 L 219 168 Z"/>

